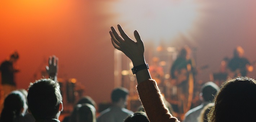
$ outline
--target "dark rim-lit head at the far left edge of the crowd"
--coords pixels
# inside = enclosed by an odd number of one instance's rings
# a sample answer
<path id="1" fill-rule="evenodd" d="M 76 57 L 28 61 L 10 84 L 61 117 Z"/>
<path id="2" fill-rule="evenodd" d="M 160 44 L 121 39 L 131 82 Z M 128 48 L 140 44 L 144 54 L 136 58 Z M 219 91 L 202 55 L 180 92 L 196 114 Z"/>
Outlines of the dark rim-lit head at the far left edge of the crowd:
<path id="1" fill-rule="evenodd" d="M 19 91 L 13 91 L 4 100 L 0 122 L 13 122 L 16 117 L 22 116 L 26 110 L 25 96 Z"/>

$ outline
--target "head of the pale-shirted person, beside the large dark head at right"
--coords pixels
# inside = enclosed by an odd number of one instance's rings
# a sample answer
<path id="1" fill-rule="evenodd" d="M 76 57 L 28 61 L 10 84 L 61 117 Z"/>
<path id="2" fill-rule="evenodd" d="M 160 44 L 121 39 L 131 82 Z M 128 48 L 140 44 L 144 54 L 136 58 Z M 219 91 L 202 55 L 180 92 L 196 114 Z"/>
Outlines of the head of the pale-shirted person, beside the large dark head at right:
<path id="1" fill-rule="evenodd" d="M 201 88 L 201 93 L 203 93 L 202 97 L 204 101 L 212 102 L 218 89 L 219 89 L 219 86 L 217 86 L 213 82 L 205 83 Z"/>

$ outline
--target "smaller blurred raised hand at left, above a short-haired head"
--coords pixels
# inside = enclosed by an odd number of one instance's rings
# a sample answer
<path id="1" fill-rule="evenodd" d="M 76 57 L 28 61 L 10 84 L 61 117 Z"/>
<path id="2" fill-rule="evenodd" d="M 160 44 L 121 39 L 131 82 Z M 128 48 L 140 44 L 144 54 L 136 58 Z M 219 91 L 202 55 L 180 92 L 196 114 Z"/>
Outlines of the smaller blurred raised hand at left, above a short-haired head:
<path id="1" fill-rule="evenodd" d="M 58 58 L 56 56 L 49 57 L 49 66 L 46 66 L 46 71 L 50 78 L 57 80 L 58 75 Z"/>

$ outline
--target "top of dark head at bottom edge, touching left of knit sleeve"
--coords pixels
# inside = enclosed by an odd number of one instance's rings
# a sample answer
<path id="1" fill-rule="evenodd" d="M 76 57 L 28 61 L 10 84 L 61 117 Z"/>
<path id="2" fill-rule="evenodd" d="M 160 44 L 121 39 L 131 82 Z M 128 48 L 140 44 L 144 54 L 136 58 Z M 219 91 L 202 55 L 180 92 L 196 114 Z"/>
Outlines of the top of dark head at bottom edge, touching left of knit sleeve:
<path id="1" fill-rule="evenodd" d="M 147 119 L 145 112 L 135 112 L 129 115 L 124 122 L 149 122 L 149 119 Z"/>

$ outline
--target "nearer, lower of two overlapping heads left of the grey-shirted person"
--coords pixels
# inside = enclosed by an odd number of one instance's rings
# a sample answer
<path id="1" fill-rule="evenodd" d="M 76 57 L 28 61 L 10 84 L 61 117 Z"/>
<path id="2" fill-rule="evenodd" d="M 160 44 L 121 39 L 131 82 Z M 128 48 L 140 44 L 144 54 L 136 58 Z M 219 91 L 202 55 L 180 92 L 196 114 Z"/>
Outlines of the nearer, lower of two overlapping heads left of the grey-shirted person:
<path id="1" fill-rule="evenodd" d="M 96 109 L 88 103 L 78 104 L 74 108 L 69 122 L 96 122 Z"/>

